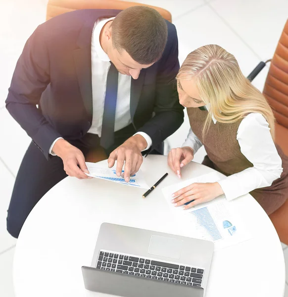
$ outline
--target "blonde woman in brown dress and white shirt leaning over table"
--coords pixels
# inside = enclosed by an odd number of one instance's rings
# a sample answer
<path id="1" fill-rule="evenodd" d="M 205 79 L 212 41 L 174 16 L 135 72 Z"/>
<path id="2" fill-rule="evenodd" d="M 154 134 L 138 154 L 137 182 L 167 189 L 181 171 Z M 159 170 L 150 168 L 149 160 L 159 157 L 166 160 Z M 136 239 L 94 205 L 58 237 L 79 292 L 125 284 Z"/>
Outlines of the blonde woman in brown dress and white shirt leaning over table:
<path id="1" fill-rule="evenodd" d="M 243 76 L 235 57 L 217 45 L 192 51 L 177 85 L 191 129 L 183 147 L 169 152 L 169 166 L 181 177 L 181 168 L 204 145 L 203 164 L 227 177 L 181 189 L 172 203 L 191 201 L 187 209 L 222 194 L 232 200 L 250 193 L 288 244 L 288 157 L 274 144 L 275 120 L 264 96 Z"/>

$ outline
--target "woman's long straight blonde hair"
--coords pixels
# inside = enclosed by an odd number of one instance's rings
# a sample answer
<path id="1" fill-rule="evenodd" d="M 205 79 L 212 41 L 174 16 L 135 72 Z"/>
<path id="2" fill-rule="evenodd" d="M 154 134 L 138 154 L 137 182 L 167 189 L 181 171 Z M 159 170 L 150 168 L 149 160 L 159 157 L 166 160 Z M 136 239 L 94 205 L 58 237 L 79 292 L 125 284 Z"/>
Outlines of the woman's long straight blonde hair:
<path id="1" fill-rule="evenodd" d="M 274 139 L 275 119 L 265 97 L 242 74 L 235 56 L 217 45 L 192 51 L 183 62 L 177 80 L 195 78 L 199 96 L 210 103 L 203 137 L 212 121 L 233 123 L 247 114 L 261 113 L 267 120 Z"/>

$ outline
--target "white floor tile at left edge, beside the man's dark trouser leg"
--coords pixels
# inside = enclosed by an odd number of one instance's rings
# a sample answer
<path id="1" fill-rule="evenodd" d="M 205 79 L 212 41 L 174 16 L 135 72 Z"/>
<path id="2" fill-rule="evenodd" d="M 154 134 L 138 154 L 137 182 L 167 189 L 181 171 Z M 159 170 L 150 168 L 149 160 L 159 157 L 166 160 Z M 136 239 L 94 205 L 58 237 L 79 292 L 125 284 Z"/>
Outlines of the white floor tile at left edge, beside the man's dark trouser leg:
<path id="1" fill-rule="evenodd" d="M 12 174 L 0 160 L 0 253 L 16 243 L 16 239 L 10 236 L 6 230 L 7 209 L 14 186 L 14 180 Z"/>

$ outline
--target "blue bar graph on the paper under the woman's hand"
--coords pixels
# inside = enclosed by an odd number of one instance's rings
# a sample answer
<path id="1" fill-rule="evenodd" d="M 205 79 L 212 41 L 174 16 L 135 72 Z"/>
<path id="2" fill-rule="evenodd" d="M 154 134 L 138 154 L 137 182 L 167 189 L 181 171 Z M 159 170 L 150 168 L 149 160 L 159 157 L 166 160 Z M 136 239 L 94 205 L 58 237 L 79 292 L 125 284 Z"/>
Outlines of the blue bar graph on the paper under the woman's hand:
<path id="1" fill-rule="evenodd" d="M 197 218 L 197 223 L 206 230 L 213 241 L 222 239 L 219 229 L 207 207 L 196 209 L 191 213 Z"/>

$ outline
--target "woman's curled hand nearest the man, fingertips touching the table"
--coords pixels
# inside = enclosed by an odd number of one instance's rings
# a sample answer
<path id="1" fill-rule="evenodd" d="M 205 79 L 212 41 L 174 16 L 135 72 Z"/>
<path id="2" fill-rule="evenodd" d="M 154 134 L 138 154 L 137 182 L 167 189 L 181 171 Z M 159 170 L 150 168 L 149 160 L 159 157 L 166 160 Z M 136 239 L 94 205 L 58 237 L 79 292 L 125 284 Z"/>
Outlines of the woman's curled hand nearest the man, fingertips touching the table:
<path id="1" fill-rule="evenodd" d="M 168 154 L 168 165 L 181 178 L 181 168 L 191 162 L 193 157 L 193 148 L 173 148 Z"/>

